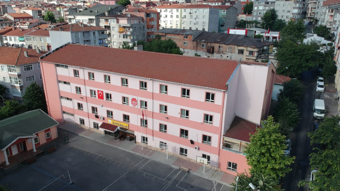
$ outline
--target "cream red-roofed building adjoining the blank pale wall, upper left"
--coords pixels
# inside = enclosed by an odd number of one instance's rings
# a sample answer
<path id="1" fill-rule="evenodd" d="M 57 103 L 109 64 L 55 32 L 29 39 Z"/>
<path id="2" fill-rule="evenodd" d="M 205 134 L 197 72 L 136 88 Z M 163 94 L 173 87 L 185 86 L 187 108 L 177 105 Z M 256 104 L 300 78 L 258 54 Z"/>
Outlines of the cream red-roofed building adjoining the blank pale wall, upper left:
<path id="1" fill-rule="evenodd" d="M 37 29 L 24 35 L 27 48 L 51 51 L 50 33 L 46 29 Z"/>

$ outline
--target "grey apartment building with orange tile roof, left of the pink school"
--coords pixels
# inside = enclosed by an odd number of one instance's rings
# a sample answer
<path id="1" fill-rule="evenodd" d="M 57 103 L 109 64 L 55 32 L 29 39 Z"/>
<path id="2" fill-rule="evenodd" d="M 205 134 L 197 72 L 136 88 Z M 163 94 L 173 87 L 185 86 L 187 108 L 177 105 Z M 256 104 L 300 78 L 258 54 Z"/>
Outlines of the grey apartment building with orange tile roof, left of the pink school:
<path id="1" fill-rule="evenodd" d="M 43 85 L 39 57 L 47 53 L 26 48 L 0 47 L 0 84 L 6 87 L 3 97 L 22 102 L 31 82 Z"/>

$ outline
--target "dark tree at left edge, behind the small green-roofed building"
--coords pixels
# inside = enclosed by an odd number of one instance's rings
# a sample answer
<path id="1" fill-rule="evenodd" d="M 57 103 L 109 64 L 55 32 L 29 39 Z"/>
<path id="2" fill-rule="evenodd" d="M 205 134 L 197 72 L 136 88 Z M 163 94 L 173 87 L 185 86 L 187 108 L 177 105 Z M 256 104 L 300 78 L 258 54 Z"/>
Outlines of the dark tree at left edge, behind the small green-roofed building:
<path id="1" fill-rule="evenodd" d="M 24 106 L 16 100 L 7 100 L 5 101 L 5 106 L 0 108 L 0 120 L 21 114 L 24 111 Z"/>

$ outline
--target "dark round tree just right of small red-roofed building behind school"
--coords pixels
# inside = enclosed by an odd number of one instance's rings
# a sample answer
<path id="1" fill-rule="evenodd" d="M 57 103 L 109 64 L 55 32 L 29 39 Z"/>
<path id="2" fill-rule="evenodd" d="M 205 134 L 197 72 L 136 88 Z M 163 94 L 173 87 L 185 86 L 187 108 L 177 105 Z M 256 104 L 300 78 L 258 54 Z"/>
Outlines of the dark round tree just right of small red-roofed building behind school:
<path id="1" fill-rule="evenodd" d="M 305 87 L 302 86 L 299 80 L 291 79 L 288 82 L 284 82 L 283 88 L 279 91 L 279 100 L 283 98 L 289 98 L 291 102 L 297 104 L 300 100 L 303 99 Z"/>

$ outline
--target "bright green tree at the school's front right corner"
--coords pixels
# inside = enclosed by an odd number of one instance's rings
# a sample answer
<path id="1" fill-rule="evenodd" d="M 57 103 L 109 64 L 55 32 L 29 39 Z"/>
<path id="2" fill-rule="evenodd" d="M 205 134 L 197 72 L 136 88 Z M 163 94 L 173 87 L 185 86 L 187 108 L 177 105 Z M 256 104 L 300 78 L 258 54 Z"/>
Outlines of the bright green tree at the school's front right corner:
<path id="1" fill-rule="evenodd" d="M 261 174 L 263 177 L 285 176 L 291 171 L 286 166 L 294 162 L 295 157 L 284 156 L 287 137 L 279 132 L 279 124 L 272 116 L 262 121 L 262 126 L 256 128 L 254 135 L 250 135 L 249 147 L 245 149 L 245 158 L 251 166 L 251 174 Z"/>

